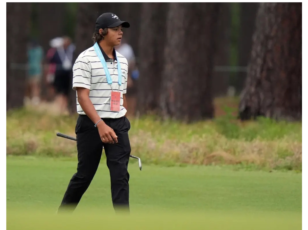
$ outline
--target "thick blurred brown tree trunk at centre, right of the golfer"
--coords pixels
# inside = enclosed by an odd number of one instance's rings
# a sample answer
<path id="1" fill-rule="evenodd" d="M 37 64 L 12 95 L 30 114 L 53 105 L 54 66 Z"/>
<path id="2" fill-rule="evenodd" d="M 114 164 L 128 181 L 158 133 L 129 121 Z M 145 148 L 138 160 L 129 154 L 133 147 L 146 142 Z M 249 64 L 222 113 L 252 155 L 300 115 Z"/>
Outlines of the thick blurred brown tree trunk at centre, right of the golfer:
<path id="1" fill-rule="evenodd" d="M 164 117 L 212 118 L 213 55 L 220 3 L 170 3 L 161 91 Z"/>

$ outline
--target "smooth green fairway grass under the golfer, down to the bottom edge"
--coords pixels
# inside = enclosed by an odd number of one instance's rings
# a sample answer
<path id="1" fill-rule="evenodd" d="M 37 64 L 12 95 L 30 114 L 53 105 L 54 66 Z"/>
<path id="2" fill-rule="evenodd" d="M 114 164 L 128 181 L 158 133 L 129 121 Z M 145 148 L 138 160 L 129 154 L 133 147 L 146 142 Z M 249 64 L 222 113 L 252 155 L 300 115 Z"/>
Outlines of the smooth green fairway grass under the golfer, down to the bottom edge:
<path id="1" fill-rule="evenodd" d="M 114 215 L 102 160 L 73 215 L 55 216 L 76 160 L 7 156 L 7 229 L 301 229 L 302 174 L 129 163 L 131 215 Z M 121 221 L 120 221 L 121 220 Z M 112 225 L 112 226 L 111 226 Z M 124 227 L 125 226 L 125 227 Z"/>

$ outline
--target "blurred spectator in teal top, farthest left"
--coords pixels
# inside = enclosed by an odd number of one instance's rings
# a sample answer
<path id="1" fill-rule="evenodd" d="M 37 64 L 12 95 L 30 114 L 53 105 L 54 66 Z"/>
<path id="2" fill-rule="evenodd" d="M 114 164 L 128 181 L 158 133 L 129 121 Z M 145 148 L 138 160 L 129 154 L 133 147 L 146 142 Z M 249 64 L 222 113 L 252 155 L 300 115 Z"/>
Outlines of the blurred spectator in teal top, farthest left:
<path id="1" fill-rule="evenodd" d="M 40 102 L 40 81 L 42 78 L 43 48 L 35 39 L 28 46 L 28 74 L 26 79 L 25 104 L 38 105 Z"/>

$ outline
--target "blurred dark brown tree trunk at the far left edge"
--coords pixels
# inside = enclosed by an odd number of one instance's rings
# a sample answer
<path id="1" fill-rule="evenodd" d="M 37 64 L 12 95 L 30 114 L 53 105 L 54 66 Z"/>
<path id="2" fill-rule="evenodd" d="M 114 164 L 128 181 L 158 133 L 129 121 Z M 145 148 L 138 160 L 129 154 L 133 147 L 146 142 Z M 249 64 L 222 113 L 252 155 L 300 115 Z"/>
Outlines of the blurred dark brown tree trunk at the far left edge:
<path id="1" fill-rule="evenodd" d="M 28 63 L 30 15 L 31 3 L 6 3 L 6 110 L 23 106 L 27 70 L 11 64 Z"/>

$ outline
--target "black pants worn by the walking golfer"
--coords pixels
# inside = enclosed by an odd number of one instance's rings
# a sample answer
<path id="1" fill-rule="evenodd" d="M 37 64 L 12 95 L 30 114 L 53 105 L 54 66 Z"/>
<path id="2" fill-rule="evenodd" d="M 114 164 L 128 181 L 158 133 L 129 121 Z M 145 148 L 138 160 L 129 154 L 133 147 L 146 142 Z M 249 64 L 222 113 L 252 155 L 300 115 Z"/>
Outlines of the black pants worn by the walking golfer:
<path id="1" fill-rule="evenodd" d="M 131 146 L 128 139 L 130 122 L 126 117 L 103 119 L 118 136 L 118 143 L 105 144 L 98 129 L 86 115 L 79 115 L 75 128 L 77 137 L 78 166 L 64 194 L 59 210 L 75 209 L 89 187 L 101 159 L 103 147 L 110 172 L 111 198 L 115 211 L 129 211 L 128 161 Z M 59 211 L 58 210 L 58 211 Z"/>

